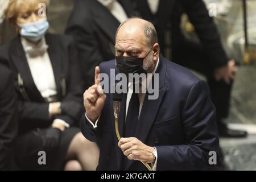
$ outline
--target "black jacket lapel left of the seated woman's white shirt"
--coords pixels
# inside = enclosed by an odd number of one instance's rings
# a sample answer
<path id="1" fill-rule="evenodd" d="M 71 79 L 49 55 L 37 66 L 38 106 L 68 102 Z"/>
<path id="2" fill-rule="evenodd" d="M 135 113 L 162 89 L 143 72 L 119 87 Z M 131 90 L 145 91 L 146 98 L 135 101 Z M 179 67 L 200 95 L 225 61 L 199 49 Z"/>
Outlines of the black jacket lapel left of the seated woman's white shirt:
<path id="1" fill-rule="evenodd" d="M 26 90 L 30 93 L 28 94 L 29 97 L 32 99 L 34 98 L 36 100 L 39 100 L 40 102 L 44 102 L 44 99 L 33 80 L 30 67 L 27 63 L 26 53 L 24 52 L 22 43 L 20 41 L 20 36 L 17 36 L 13 40 L 9 55 L 11 57 L 11 60 L 13 60 L 13 63 L 18 73 L 20 73 L 20 76 L 23 79 L 23 83 L 26 87 Z"/>

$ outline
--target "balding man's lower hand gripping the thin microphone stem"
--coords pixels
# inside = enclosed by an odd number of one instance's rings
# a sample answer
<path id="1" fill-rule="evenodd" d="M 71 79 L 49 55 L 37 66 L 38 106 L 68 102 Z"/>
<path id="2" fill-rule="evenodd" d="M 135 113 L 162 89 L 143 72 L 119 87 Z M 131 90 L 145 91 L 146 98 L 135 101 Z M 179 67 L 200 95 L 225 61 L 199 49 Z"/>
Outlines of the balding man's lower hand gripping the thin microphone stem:
<path id="1" fill-rule="evenodd" d="M 153 163 L 155 158 L 152 154 L 154 147 L 147 146 L 137 138 L 121 138 L 118 146 L 123 151 L 123 154 L 130 160 L 140 160 L 146 163 Z"/>

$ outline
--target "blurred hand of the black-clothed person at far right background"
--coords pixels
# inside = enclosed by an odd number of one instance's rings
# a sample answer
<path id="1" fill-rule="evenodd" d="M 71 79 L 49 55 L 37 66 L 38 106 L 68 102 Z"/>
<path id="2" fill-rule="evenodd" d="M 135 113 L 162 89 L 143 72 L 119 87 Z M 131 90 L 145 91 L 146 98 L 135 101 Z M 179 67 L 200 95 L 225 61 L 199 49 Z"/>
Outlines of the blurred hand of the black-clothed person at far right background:
<path id="1" fill-rule="evenodd" d="M 235 73 L 237 72 L 238 67 L 236 66 L 234 60 L 230 60 L 228 62 L 228 65 L 225 67 L 217 68 L 214 71 L 214 78 L 217 81 L 220 81 L 223 79 L 227 84 L 230 83 L 230 81 L 234 80 L 236 78 Z"/>

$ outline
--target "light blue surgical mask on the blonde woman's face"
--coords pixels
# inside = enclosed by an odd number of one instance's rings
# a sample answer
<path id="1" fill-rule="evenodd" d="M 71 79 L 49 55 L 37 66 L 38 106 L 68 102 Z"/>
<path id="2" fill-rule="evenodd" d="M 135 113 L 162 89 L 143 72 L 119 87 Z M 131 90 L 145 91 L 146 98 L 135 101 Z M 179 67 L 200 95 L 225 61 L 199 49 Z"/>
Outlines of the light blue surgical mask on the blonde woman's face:
<path id="1" fill-rule="evenodd" d="M 42 39 L 49 28 L 49 23 L 47 18 L 40 19 L 37 22 L 33 23 L 24 23 L 18 24 L 21 28 L 20 35 L 24 36 L 28 40 L 32 42 L 38 42 L 38 40 Z"/>

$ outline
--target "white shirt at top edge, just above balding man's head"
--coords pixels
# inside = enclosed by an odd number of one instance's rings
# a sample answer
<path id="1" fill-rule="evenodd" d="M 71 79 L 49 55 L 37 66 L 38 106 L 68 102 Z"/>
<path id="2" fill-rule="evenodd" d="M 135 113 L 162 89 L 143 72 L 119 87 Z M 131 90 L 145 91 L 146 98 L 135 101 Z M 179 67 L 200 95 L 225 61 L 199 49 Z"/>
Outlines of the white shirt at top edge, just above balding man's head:
<path id="1" fill-rule="evenodd" d="M 128 18 L 127 14 L 125 13 L 125 10 L 117 0 L 97 1 L 100 2 L 103 6 L 105 6 L 120 23 L 124 22 Z"/>

